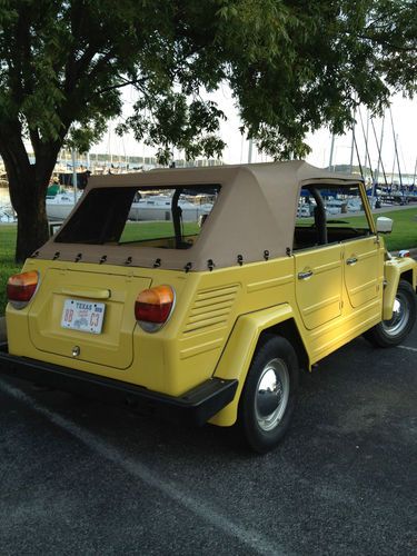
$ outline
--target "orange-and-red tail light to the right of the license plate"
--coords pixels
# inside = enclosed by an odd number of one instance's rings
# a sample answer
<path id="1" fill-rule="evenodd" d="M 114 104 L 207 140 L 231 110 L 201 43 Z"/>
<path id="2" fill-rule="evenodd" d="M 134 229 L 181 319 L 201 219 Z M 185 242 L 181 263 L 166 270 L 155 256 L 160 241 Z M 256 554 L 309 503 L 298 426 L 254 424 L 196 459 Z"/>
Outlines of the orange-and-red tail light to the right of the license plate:
<path id="1" fill-rule="evenodd" d="M 170 286 L 156 286 L 141 291 L 135 304 L 135 317 L 147 332 L 156 332 L 169 319 L 176 296 Z"/>

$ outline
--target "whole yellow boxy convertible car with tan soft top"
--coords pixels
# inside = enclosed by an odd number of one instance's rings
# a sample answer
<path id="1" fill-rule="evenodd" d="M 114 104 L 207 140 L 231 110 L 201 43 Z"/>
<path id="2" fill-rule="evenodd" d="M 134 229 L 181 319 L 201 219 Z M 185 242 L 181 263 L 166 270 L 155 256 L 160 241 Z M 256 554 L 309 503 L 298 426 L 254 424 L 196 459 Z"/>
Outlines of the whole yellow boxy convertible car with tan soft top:
<path id="1" fill-rule="evenodd" d="M 297 219 L 300 206 L 311 216 Z M 386 251 L 390 227 L 359 178 L 302 161 L 92 177 L 9 279 L 1 371 L 236 425 L 267 451 L 300 368 L 359 335 L 387 347 L 411 329 L 417 265 Z"/>

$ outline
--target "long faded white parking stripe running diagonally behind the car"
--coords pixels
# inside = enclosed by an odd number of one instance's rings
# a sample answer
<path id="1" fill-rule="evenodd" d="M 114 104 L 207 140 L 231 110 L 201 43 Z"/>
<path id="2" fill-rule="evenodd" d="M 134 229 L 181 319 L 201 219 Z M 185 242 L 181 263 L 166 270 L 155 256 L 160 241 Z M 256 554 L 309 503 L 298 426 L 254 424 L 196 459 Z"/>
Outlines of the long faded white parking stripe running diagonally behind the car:
<path id="1" fill-rule="evenodd" d="M 222 530 L 228 536 L 236 538 L 247 545 L 251 554 L 281 555 L 289 553 L 282 550 L 276 543 L 260 535 L 257 530 L 250 529 L 245 525 L 239 525 L 230 519 L 229 516 L 222 514 L 219 508 L 200 500 L 181 488 L 178 484 L 166 480 L 163 477 L 151 471 L 146 465 L 132 459 L 125 454 L 120 454 L 117 449 L 103 441 L 93 433 L 90 433 L 75 423 L 61 417 L 60 415 L 50 411 L 48 408 L 38 404 L 33 398 L 21 391 L 19 388 L 0 380 L 0 389 L 29 406 L 33 411 L 47 418 L 53 425 L 66 430 L 79 441 L 85 444 L 89 449 L 95 450 L 100 456 L 109 461 L 122 467 L 125 471 L 138 478 L 146 485 L 160 490 L 163 495 L 180 504 L 189 512 L 208 522 L 210 525 Z"/>

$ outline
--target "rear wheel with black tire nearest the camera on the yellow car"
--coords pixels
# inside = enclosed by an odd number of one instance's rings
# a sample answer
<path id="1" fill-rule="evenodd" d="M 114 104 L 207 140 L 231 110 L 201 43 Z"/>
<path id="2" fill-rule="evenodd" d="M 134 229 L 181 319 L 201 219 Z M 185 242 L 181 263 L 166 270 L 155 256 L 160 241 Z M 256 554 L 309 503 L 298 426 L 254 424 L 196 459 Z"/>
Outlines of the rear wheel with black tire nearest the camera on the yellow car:
<path id="1" fill-rule="evenodd" d="M 238 426 L 252 450 L 265 454 L 286 434 L 296 406 L 298 381 L 298 360 L 291 344 L 279 336 L 265 336 L 239 400 Z"/>

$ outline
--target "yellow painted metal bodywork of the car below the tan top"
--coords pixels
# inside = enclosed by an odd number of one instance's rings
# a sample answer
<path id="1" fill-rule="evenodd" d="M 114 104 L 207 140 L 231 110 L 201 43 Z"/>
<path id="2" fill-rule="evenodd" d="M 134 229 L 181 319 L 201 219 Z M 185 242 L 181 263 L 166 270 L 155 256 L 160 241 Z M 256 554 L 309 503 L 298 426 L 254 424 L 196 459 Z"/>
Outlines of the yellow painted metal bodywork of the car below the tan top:
<path id="1" fill-rule="evenodd" d="M 211 272 L 28 259 L 23 270 L 38 270 L 40 286 L 24 309 L 7 308 L 9 350 L 171 396 L 212 376 L 237 378 L 234 401 L 212 419 L 230 426 L 264 330 L 294 319 L 311 366 L 390 318 L 400 275 L 413 270 L 416 288 L 416 268 L 411 259 L 385 261 L 375 236 Z M 175 289 L 176 305 L 149 334 L 136 322 L 135 300 L 158 285 Z M 68 298 L 106 304 L 102 334 L 61 328 Z"/>

